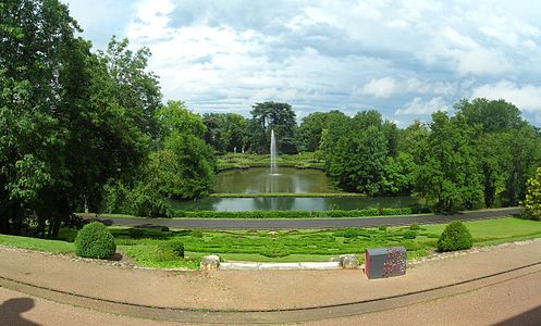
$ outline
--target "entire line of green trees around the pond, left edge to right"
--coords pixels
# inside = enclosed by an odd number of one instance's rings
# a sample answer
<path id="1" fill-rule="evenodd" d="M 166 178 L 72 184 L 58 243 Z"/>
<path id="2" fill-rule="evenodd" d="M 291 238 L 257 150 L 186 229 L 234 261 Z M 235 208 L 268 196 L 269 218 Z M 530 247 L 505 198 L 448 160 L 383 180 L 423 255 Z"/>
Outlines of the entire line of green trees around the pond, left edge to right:
<path id="1" fill-rule="evenodd" d="M 163 102 L 150 52 L 112 38 L 103 51 L 58 0 L 0 3 L 0 233 L 54 238 L 73 212 L 170 214 L 209 193 L 216 154 L 313 152 L 336 187 L 417 195 L 438 210 L 517 204 L 540 163 L 539 130 L 503 100 L 460 101 L 405 129 L 377 111 L 255 103 L 251 116 Z"/>

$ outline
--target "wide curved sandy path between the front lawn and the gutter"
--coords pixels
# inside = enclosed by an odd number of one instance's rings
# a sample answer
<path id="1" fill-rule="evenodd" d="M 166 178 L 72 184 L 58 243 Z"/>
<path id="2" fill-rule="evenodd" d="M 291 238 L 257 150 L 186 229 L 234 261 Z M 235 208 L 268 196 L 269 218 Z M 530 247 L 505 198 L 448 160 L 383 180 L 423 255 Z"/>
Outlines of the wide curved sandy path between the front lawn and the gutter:
<path id="1" fill-rule="evenodd" d="M 541 261 L 541 241 L 423 263 L 406 276 L 360 271 L 162 272 L 73 262 L 0 248 L 0 276 L 120 302 L 168 308 L 267 310 L 315 306 L 430 289 Z"/>

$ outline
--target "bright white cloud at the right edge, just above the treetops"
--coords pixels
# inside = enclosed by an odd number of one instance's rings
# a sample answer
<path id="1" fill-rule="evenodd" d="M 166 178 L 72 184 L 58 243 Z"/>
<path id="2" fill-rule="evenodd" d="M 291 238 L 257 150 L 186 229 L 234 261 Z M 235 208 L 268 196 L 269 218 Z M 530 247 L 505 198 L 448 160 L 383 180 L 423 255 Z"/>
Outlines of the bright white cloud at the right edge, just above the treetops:
<path id="1" fill-rule="evenodd" d="M 471 98 L 504 99 L 524 111 L 541 111 L 541 86 L 519 86 L 508 80 L 488 84 L 474 89 Z"/>

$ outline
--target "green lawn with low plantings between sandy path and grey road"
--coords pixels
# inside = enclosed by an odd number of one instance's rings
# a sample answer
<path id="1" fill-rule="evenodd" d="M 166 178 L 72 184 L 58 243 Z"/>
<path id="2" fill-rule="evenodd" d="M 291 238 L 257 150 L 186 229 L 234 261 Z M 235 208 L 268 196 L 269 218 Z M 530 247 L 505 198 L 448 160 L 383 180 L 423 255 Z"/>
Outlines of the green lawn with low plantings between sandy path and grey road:
<path id="1" fill-rule="evenodd" d="M 465 223 L 476 246 L 541 237 L 541 222 L 506 217 Z M 434 251 L 445 225 L 422 225 L 415 239 L 405 236 L 409 227 L 347 228 L 318 230 L 189 230 L 168 228 L 109 227 L 119 249 L 142 266 L 197 268 L 201 256 L 217 253 L 224 260 L 259 262 L 329 261 L 342 253 L 355 253 L 364 261 L 367 248 L 404 246 L 408 259 Z M 0 243 L 40 251 L 74 251 L 75 229 L 63 229 L 61 240 L 0 235 Z M 160 244 L 181 239 L 185 259 L 162 255 Z"/>

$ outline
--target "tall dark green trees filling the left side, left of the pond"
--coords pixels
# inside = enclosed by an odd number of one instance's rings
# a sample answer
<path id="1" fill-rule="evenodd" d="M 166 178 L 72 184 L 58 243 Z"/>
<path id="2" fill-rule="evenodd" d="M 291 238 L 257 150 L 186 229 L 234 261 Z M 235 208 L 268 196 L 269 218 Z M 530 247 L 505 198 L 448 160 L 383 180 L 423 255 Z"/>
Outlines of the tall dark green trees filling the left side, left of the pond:
<path id="1" fill-rule="evenodd" d="M 78 32 L 58 0 L 0 3 L 0 233 L 56 238 L 72 212 L 103 205 L 163 215 L 165 197 L 212 184 L 206 128 L 162 104 L 148 49 L 113 37 L 93 53 Z M 169 111 L 183 113 L 163 121 Z"/>

